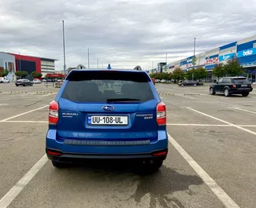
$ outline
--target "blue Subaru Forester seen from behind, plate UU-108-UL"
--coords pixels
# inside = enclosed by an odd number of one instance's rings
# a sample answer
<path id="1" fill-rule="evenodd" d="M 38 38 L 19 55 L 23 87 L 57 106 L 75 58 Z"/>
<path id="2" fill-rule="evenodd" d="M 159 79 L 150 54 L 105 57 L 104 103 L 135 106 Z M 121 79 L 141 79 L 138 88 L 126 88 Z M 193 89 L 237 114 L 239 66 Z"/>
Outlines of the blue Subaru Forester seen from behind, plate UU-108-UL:
<path id="1" fill-rule="evenodd" d="M 46 155 L 55 167 L 135 159 L 158 170 L 167 153 L 165 104 L 146 71 L 75 69 L 50 102 Z"/>

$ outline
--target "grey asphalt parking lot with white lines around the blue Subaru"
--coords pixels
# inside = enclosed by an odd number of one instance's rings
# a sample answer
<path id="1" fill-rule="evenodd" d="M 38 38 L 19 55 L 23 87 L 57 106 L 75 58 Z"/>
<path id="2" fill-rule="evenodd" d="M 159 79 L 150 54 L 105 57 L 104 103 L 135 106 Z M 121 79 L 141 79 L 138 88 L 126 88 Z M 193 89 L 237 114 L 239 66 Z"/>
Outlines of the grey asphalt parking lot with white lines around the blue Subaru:
<path id="1" fill-rule="evenodd" d="M 45 135 L 47 105 L 58 89 L 0 84 L 0 208 L 254 208 L 256 92 L 157 89 L 168 109 L 169 155 L 158 173 L 143 175 L 125 164 L 54 168 Z"/>

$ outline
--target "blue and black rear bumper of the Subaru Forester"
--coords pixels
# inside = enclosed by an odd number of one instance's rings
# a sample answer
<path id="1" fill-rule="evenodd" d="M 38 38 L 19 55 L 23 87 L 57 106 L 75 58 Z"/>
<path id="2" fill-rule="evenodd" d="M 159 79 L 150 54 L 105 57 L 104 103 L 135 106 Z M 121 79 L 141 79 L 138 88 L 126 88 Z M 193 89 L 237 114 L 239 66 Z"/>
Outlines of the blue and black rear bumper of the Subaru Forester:
<path id="1" fill-rule="evenodd" d="M 72 145 L 55 140 L 55 135 L 55 130 L 47 133 L 46 155 L 48 159 L 59 162 L 80 162 L 84 159 L 165 160 L 168 153 L 168 136 L 165 131 L 159 131 L 158 140 L 141 145 Z M 49 151 L 53 153 L 49 154 Z M 154 154 L 158 152 L 165 154 Z"/>

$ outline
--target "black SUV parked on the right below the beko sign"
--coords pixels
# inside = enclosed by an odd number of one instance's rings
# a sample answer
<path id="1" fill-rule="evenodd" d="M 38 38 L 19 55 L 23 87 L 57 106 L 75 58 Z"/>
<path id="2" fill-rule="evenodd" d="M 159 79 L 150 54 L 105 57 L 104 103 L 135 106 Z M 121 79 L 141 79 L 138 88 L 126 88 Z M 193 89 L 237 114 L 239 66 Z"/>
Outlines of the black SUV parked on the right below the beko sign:
<path id="1" fill-rule="evenodd" d="M 210 86 L 211 95 L 224 93 L 225 97 L 232 94 L 241 94 L 243 97 L 247 97 L 252 90 L 253 87 L 246 77 L 224 77 Z"/>

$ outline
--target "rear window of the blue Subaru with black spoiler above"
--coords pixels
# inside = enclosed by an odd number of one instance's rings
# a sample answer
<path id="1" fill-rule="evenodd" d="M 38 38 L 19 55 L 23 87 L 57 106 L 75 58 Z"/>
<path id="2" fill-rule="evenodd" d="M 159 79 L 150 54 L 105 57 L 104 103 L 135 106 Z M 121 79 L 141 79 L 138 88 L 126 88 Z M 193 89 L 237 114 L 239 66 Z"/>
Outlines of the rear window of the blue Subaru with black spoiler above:
<path id="1" fill-rule="evenodd" d="M 62 98 L 75 102 L 146 102 L 154 99 L 145 73 L 77 71 L 69 76 Z"/>

